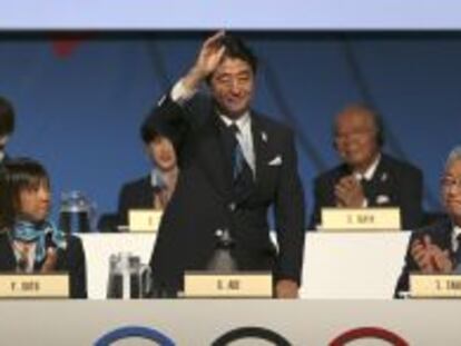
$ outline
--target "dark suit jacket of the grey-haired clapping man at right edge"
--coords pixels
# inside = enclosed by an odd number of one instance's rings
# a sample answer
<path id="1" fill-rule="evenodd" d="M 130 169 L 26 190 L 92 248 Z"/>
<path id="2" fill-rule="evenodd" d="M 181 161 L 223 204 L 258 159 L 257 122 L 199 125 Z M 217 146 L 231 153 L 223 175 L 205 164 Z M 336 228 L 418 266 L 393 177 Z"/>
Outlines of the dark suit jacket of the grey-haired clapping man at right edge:
<path id="1" fill-rule="evenodd" d="M 442 250 L 448 249 L 451 255 L 452 254 L 452 246 L 451 246 L 451 233 L 453 230 L 453 225 L 449 218 L 445 218 L 434 225 L 426 226 L 413 231 L 409 248 L 406 250 L 405 256 L 405 266 L 402 270 L 402 274 L 399 278 L 396 284 L 395 294 L 399 291 L 406 291 L 409 290 L 409 276 L 412 271 L 419 271 L 420 268 L 414 261 L 413 257 L 410 254 L 411 244 L 416 239 L 422 239 L 425 235 L 431 237 L 432 244 L 439 246 Z"/>

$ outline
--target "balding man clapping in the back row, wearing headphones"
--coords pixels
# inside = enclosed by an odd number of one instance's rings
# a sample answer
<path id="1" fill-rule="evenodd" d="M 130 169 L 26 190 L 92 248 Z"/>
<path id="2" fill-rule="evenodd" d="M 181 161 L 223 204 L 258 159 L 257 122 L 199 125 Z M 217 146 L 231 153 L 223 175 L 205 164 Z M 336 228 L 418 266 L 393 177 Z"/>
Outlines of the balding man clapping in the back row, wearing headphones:
<path id="1" fill-rule="evenodd" d="M 336 116 L 334 146 L 344 162 L 314 180 L 312 229 L 321 224 L 323 207 L 399 207 L 402 229 L 420 226 L 422 174 L 383 154 L 383 141 L 381 119 L 365 105 Z"/>

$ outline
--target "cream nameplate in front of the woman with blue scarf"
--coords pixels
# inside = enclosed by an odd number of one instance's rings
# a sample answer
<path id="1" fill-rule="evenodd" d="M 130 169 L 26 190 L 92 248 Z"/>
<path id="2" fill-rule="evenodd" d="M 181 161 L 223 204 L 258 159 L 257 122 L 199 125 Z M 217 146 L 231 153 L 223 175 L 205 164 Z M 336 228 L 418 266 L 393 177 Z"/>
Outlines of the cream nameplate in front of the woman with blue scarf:
<path id="1" fill-rule="evenodd" d="M 0 274 L 0 298 L 68 297 L 68 274 Z"/>

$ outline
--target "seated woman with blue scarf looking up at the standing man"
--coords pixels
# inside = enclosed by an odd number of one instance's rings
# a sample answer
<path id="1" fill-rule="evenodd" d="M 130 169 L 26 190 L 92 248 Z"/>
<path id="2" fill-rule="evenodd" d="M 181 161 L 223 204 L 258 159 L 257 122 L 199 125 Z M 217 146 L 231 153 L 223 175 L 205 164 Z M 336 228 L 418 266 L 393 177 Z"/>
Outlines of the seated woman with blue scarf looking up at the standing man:
<path id="1" fill-rule="evenodd" d="M 81 240 L 48 219 L 50 179 L 39 162 L 8 161 L 0 175 L 0 271 L 69 273 L 70 297 L 86 298 Z"/>

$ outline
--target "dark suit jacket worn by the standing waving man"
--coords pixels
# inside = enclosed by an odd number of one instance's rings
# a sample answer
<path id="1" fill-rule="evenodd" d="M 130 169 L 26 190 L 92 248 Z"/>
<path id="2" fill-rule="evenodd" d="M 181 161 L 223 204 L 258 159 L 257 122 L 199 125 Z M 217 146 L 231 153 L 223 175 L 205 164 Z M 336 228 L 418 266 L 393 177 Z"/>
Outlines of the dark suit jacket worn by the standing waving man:
<path id="1" fill-rule="evenodd" d="M 251 112 L 256 185 L 235 205 L 230 160 L 220 136 L 224 123 L 209 99 L 196 96 L 182 107 L 167 97 L 153 117 L 175 144 L 180 169 L 150 260 L 157 286 L 182 289 L 185 270 L 205 269 L 218 229 L 229 229 L 239 269 L 274 270 L 276 279 L 300 281 L 304 196 L 292 131 Z M 269 240 L 269 206 L 275 210 L 278 255 Z"/>

